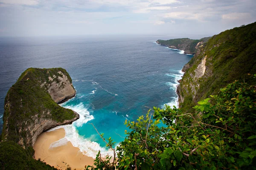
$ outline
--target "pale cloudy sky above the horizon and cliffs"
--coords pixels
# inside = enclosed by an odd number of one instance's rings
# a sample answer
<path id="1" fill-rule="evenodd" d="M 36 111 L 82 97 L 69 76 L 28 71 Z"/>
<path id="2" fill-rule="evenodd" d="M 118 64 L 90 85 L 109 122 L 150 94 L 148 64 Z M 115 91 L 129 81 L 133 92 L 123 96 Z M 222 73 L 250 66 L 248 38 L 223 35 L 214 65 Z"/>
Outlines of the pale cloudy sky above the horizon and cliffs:
<path id="1" fill-rule="evenodd" d="M 256 21 L 256 0 L 0 0 L 0 37 L 209 35 Z"/>

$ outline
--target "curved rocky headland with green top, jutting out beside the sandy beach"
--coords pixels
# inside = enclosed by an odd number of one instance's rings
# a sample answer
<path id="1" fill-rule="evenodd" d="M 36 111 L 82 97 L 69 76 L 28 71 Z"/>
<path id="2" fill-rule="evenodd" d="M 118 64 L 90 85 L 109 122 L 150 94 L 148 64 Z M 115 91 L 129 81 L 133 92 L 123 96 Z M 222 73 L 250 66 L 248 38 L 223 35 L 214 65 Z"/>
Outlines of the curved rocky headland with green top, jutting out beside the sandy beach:
<path id="1" fill-rule="evenodd" d="M 75 95 L 66 70 L 27 69 L 6 95 L 2 140 L 31 147 L 43 131 L 75 121 L 76 112 L 57 105 Z"/>

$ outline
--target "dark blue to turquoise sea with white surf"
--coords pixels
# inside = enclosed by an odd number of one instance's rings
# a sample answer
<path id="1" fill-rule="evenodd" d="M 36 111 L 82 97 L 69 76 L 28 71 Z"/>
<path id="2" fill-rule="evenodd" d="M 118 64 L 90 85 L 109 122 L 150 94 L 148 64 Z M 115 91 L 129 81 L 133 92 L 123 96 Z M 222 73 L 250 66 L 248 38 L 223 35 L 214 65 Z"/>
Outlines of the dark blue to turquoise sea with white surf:
<path id="1" fill-rule="evenodd" d="M 61 104 L 80 114 L 64 125 L 66 136 L 51 147 L 72 142 L 88 155 L 108 153 L 105 138 L 120 142 L 125 119 L 134 121 L 153 106 L 177 105 L 176 85 L 191 55 L 155 43 L 161 36 L 0 38 L 0 127 L 4 98 L 27 68 L 62 67 L 73 79 L 76 97 Z M 58 128 L 58 127 L 57 127 Z"/>

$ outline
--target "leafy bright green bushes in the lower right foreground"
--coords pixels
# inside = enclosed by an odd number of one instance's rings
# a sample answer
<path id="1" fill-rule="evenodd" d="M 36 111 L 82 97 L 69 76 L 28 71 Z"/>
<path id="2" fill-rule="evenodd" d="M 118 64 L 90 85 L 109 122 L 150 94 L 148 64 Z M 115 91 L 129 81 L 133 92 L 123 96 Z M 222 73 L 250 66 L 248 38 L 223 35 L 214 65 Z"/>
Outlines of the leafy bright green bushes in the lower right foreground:
<path id="1" fill-rule="evenodd" d="M 233 82 L 194 108 L 195 114 L 184 114 L 166 105 L 125 122 L 130 130 L 117 156 L 103 161 L 99 152 L 95 167 L 86 169 L 256 169 L 255 85 Z M 111 138 L 108 147 L 113 148 Z"/>

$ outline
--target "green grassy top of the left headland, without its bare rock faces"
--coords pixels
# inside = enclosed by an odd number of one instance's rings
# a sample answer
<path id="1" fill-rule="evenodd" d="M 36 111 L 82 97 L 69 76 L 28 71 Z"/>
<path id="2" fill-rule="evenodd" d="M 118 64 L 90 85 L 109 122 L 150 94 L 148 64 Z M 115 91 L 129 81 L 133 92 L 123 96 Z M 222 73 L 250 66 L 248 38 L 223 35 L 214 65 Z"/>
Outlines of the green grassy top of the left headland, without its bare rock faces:
<path id="1" fill-rule="evenodd" d="M 61 76 L 58 71 L 67 75 L 71 81 L 63 68 L 28 68 L 21 74 L 6 95 L 2 140 L 6 137 L 6 128 L 8 128 L 7 140 L 17 142 L 20 137 L 26 139 L 28 135 L 26 128 L 33 124 L 35 119 L 44 118 L 64 122 L 75 117 L 72 110 L 62 108 L 52 100 L 46 85 L 41 88 L 44 82 L 49 83 L 48 77 L 58 81 L 58 76 Z M 9 105 L 6 105 L 8 103 Z"/>

